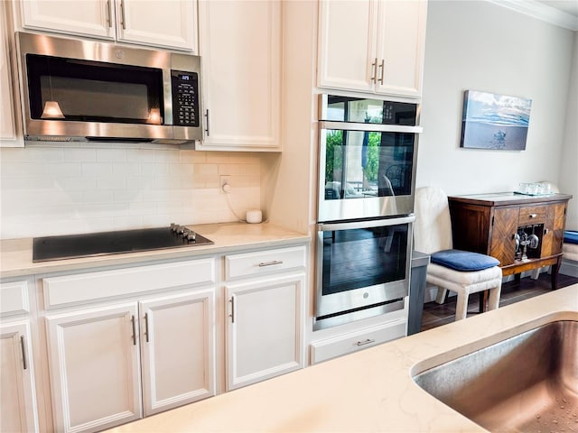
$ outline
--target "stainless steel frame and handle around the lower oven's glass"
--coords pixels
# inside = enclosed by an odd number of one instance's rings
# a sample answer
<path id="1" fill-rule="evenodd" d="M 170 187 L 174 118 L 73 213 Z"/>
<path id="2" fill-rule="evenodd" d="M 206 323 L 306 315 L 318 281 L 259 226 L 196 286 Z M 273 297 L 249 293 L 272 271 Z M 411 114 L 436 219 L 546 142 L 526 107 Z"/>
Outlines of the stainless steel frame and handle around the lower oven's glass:
<path id="1" fill-rule="evenodd" d="M 316 252 L 316 293 L 315 293 L 315 318 L 319 320 L 331 315 L 339 315 L 352 309 L 371 308 L 380 303 L 399 300 L 409 294 L 409 278 L 411 271 L 411 249 L 413 239 L 413 226 L 415 215 L 406 217 L 383 218 L 373 220 L 361 220 L 348 223 L 318 224 L 317 225 L 317 252 Z M 332 230 L 348 230 L 356 228 L 396 226 L 407 224 L 407 247 L 406 247 L 406 278 L 399 281 L 391 281 L 376 284 L 369 287 L 348 290 L 345 292 L 323 295 L 322 293 L 322 263 L 323 263 L 323 232 Z M 368 295 L 371 293 L 370 295 Z M 345 307 L 344 307 L 345 306 Z"/>

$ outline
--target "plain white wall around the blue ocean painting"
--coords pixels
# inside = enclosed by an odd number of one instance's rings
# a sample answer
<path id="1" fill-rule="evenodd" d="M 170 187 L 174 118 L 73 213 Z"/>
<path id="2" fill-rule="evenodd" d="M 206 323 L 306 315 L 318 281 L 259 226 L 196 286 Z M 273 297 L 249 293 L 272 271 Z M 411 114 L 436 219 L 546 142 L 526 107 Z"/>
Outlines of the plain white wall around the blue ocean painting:
<path id="1" fill-rule="evenodd" d="M 550 180 L 578 200 L 575 177 L 572 190 L 560 172 L 561 161 L 578 146 L 575 133 L 564 142 L 573 41 L 572 31 L 499 5 L 430 1 L 417 186 L 439 186 L 452 195 Z M 460 148 L 467 89 L 532 99 L 525 151 Z M 575 116 L 568 122 L 575 124 Z M 575 162 L 573 167 L 575 172 Z"/>

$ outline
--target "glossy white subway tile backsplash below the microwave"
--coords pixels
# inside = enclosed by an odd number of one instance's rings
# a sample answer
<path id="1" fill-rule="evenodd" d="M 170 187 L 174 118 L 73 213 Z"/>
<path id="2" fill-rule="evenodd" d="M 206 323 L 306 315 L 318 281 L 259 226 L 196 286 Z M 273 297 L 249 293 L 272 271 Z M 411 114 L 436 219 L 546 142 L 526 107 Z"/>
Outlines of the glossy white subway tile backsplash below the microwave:
<path id="1" fill-rule="evenodd" d="M 228 222 L 260 207 L 256 153 L 83 144 L 0 149 L 0 238 Z"/>

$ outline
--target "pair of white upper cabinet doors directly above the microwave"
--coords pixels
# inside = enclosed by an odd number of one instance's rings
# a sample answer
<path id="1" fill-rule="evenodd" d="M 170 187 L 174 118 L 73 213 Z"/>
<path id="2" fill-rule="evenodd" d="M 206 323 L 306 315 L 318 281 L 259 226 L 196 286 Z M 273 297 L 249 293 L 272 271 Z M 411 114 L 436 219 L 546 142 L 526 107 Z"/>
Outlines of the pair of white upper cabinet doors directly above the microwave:
<path id="1" fill-rule="evenodd" d="M 192 0 L 62 0 L 20 2 L 24 29 L 61 32 L 198 52 Z"/>

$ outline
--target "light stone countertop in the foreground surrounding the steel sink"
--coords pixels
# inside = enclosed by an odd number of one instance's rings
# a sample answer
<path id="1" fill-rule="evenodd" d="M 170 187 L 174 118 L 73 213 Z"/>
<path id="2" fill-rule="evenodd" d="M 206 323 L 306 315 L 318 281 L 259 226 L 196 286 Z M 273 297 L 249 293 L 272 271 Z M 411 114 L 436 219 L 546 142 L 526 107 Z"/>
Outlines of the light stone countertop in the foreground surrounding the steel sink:
<path id="1" fill-rule="evenodd" d="M 412 372 L 556 319 L 578 320 L 578 284 L 108 432 L 486 431 L 421 390 Z"/>

